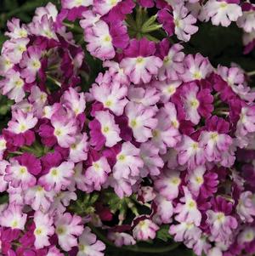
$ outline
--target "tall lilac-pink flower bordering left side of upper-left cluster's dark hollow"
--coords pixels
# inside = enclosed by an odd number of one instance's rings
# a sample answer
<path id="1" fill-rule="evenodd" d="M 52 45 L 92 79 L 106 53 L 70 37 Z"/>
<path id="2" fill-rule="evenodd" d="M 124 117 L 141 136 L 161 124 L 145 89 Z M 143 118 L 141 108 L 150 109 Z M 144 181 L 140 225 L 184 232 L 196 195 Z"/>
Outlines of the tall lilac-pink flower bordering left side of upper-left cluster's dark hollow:
<path id="1" fill-rule="evenodd" d="M 26 79 L 26 82 L 34 82 L 37 78 L 37 72 L 41 69 L 42 51 L 40 48 L 31 46 L 23 54 L 20 60 L 21 77 Z"/>

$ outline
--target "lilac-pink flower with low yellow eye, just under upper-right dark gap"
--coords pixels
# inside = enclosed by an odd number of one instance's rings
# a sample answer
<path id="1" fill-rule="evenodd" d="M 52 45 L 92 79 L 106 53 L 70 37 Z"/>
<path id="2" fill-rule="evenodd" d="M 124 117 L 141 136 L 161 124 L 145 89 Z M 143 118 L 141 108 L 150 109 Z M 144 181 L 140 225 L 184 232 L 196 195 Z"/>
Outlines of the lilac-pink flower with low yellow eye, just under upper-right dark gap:
<path id="1" fill-rule="evenodd" d="M 212 65 L 208 58 L 201 54 L 189 54 L 184 59 L 185 72 L 182 75 L 184 82 L 205 79 L 212 72 Z"/>

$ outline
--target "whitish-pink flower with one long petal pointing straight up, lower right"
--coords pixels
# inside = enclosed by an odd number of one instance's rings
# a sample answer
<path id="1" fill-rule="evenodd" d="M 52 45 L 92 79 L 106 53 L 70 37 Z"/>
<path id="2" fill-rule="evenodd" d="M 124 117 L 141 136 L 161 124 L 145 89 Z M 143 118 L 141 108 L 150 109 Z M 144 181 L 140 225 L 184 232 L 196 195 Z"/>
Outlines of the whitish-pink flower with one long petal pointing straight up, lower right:
<path id="1" fill-rule="evenodd" d="M 178 213 L 178 215 L 175 216 L 175 219 L 178 222 L 186 222 L 199 226 L 201 224 L 201 212 L 198 210 L 197 204 L 188 188 L 183 187 L 183 189 L 184 197 L 180 198 L 180 202 L 184 202 L 184 204 L 177 204 L 174 213 Z"/>

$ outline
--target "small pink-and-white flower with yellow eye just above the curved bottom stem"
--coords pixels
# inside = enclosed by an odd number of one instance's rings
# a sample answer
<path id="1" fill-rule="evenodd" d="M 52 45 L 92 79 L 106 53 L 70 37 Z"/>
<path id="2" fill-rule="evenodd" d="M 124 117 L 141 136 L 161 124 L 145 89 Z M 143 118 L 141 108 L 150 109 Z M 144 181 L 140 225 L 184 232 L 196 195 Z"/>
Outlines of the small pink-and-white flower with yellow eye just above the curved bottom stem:
<path id="1" fill-rule="evenodd" d="M 150 219 L 140 220 L 138 225 L 133 228 L 133 237 L 142 241 L 154 239 L 156 237 L 156 231 L 159 229 L 159 226 Z"/>

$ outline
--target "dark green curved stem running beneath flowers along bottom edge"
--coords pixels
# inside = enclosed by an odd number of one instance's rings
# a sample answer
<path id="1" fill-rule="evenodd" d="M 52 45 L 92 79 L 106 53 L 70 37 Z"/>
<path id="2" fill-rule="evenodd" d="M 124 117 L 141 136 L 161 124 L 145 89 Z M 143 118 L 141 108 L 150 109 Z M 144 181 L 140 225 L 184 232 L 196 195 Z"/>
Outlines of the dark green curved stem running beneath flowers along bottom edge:
<path id="1" fill-rule="evenodd" d="M 107 237 L 105 237 L 97 228 L 93 225 L 88 225 L 91 230 L 93 230 L 94 234 L 99 237 L 99 240 L 105 242 L 105 244 L 116 247 L 116 245 L 111 242 Z M 174 242 L 173 244 L 165 247 L 139 247 L 138 245 L 133 246 L 123 246 L 119 247 L 120 250 L 131 251 L 131 252 L 139 252 L 139 253 L 167 253 L 173 251 L 175 248 L 179 246 L 178 242 Z"/>

